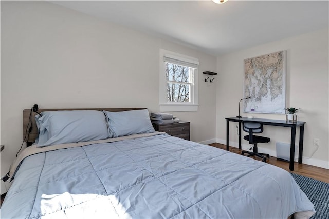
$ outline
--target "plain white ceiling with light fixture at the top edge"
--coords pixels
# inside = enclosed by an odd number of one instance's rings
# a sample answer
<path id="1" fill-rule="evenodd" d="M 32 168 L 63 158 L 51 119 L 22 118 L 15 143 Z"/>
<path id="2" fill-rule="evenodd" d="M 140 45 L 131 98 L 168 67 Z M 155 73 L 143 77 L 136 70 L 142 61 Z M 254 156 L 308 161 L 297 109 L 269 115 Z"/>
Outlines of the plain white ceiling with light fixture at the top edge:
<path id="1" fill-rule="evenodd" d="M 50 1 L 207 54 L 328 27 L 329 1 Z"/>

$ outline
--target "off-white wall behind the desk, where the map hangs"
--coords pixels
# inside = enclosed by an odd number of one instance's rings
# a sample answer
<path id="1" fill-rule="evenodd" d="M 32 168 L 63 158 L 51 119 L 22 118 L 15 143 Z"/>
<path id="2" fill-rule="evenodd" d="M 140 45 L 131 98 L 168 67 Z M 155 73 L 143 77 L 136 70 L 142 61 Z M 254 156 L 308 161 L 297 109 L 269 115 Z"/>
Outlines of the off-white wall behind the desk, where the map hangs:
<path id="1" fill-rule="evenodd" d="M 328 130 L 328 29 L 311 32 L 281 41 L 260 45 L 217 58 L 217 101 L 216 138 L 226 144 L 225 117 L 236 116 L 239 100 L 243 98 L 244 59 L 281 50 L 287 51 L 286 106 L 301 108 L 298 120 L 305 121 L 303 156 L 309 157 L 316 150 L 313 139 L 319 138 L 320 146 L 310 159 L 303 163 L 329 168 Z M 259 118 L 285 120 L 285 115 L 243 113 Z M 290 143 L 290 129 L 284 127 L 264 127 L 264 136 L 271 138 L 270 144 L 260 144 L 261 152 L 276 156 L 276 142 Z M 230 124 L 232 146 L 238 145 L 236 124 Z M 296 141 L 299 140 L 299 128 Z M 242 140 L 244 141 L 244 140 Z M 249 148 L 245 141 L 243 147 Z"/>

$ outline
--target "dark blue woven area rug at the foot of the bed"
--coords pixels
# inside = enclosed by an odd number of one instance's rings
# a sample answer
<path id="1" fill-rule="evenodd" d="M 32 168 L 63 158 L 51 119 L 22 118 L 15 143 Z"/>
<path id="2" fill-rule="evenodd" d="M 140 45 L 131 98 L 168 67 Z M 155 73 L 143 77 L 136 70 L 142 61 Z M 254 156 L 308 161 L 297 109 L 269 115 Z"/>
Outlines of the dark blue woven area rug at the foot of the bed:
<path id="1" fill-rule="evenodd" d="M 329 183 L 290 173 L 317 211 L 311 219 L 329 218 Z"/>

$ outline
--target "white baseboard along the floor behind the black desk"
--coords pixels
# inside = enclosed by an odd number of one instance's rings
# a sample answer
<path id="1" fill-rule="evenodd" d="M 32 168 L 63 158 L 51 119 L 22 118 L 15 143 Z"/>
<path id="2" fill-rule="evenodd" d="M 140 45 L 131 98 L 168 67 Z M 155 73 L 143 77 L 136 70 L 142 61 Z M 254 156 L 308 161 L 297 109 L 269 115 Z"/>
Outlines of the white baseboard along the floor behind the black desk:
<path id="1" fill-rule="evenodd" d="M 220 143 L 223 145 L 226 145 L 226 140 L 216 138 L 216 143 Z M 229 145 L 235 148 L 239 148 L 239 143 L 238 142 L 231 142 L 229 141 Z M 250 145 L 249 144 L 242 144 L 241 145 L 243 150 L 249 150 Z M 270 156 L 276 157 L 277 156 L 277 151 L 271 150 L 268 148 L 259 148 L 259 152 L 261 153 L 268 153 Z M 295 151 L 295 161 L 298 161 L 298 151 Z M 324 169 L 329 169 L 329 162 L 323 161 L 323 160 L 318 160 L 315 158 L 304 158 L 303 157 L 303 164 L 311 165 L 311 166 L 316 166 L 316 167 L 321 167 Z"/>

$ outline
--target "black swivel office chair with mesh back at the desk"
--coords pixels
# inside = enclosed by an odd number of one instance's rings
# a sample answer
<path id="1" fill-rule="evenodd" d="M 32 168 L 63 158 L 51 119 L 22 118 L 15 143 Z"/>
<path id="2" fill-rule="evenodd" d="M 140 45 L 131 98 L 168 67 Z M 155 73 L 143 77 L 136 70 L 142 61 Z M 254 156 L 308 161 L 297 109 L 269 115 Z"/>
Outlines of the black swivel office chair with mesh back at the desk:
<path id="1" fill-rule="evenodd" d="M 242 121 L 242 128 L 245 132 L 249 132 L 249 135 L 245 135 L 243 139 L 249 141 L 249 144 L 253 145 L 253 151 L 251 152 L 251 151 L 242 150 L 241 155 L 247 153 L 248 154 L 247 156 L 258 156 L 263 159 L 263 162 L 266 163 L 266 157 L 269 158 L 269 154 L 258 153 L 257 143 L 268 143 L 270 141 L 270 138 L 253 135 L 254 133 L 263 132 L 263 123 L 244 120 Z"/>

